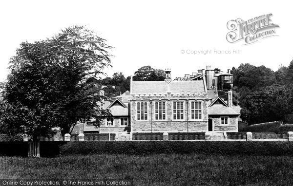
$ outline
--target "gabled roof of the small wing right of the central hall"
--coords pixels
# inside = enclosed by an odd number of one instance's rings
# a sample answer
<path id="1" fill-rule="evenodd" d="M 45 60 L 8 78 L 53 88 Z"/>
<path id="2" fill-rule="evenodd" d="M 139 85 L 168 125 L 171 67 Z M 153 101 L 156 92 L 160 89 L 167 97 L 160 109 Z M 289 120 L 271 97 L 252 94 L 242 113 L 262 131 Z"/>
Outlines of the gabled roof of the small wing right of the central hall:
<path id="1" fill-rule="evenodd" d="M 239 113 L 234 111 L 232 108 L 230 108 L 226 104 L 226 102 L 220 97 L 217 97 L 216 99 L 214 99 L 212 103 L 209 105 L 208 114 L 209 115 L 240 115 Z"/>

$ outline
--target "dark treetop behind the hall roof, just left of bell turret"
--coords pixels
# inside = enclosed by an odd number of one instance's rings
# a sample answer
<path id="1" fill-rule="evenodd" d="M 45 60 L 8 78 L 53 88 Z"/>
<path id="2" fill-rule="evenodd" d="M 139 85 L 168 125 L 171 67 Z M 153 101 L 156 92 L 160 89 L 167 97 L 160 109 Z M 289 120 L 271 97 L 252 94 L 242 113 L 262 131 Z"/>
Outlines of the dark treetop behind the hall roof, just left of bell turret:
<path id="1" fill-rule="evenodd" d="M 166 77 L 165 71 L 161 69 L 153 69 L 151 66 L 139 68 L 133 76 L 134 81 L 164 81 Z"/>

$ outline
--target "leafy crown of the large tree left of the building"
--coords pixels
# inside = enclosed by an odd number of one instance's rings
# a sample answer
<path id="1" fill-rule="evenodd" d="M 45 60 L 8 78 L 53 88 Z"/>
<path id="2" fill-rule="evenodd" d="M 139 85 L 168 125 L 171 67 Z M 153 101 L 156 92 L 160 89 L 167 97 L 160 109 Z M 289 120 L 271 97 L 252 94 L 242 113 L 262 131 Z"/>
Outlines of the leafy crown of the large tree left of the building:
<path id="1" fill-rule="evenodd" d="M 105 39 L 82 26 L 69 27 L 42 41 L 22 42 L 10 61 L 0 128 L 9 133 L 47 135 L 52 127 L 69 133 L 78 121 L 108 115 L 90 78 L 110 66 Z"/>

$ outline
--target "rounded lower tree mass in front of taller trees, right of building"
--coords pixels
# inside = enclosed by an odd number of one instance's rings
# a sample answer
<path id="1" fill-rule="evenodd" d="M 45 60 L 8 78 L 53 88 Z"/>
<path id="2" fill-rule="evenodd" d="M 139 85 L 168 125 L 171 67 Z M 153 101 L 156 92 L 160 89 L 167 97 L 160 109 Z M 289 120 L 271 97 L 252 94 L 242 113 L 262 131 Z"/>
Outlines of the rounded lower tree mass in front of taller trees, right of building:
<path id="1" fill-rule="evenodd" d="M 249 124 L 283 120 L 293 111 L 292 88 L 272 85 L 253 92 L 243 93 L 240 98 L 241 118 Z"/>

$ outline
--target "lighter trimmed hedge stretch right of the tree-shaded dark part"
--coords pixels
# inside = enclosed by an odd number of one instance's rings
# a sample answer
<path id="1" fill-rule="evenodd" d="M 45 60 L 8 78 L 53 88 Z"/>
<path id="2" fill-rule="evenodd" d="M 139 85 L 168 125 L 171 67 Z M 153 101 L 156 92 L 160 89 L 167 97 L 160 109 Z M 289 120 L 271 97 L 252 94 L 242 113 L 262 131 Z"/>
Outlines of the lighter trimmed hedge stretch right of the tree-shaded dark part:
<path id="1" fill-rule="evenodd" d="M 221 155 L 293 155 L 293 142 L 280 141 L 101 141 L 68 142 L 60 146 L 61 155 L 72 154 L 196 153 Z"/>

